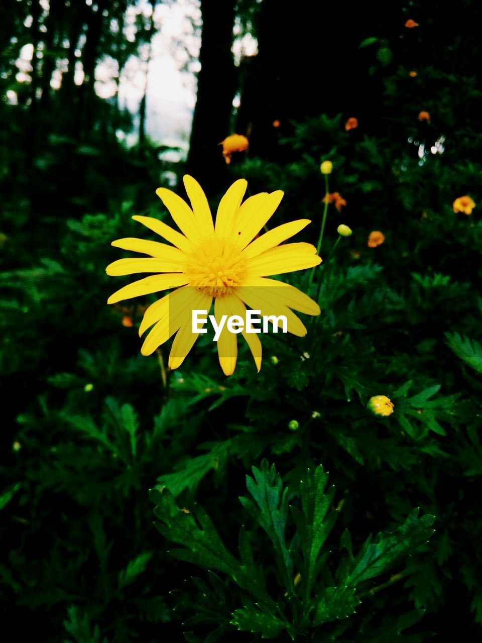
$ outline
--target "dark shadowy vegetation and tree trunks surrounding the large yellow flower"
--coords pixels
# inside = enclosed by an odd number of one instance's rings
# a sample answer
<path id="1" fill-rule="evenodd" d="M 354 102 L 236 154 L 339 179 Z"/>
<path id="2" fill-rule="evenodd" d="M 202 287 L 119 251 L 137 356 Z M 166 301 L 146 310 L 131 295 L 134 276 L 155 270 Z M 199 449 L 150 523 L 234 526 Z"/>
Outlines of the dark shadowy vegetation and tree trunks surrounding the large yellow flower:
<path id="1" fill-rule="evenodd" d="M 184 588 L 192 616 L 189 579 L 206 571 L 167 553 L 148 489 L 166 485 L 179 507 L 199 503 L 232 550 L 240 526 L 252 527 L 271 574 L 269 546 L 238 502 L 245 474 L 267 457 L 295 496 L 307 467 L 323 463 L 335 503 L 343 500 L 335 534 L 349 527 L 357 546 L 413 507 L 436 516 L 429 543 L 400 563 L 400 580 L 371 598 L 342 638 L 330 630 L 299 640 L 372 640 L 358 634 L 375 628 L 371 615 L 378 623 L 414 606 L 425 610 L 414 626 L 421 638 L 390 640 L 424 640 L 424 632 L 477 640 L 482 6 L 201 0 L 191 145 L 186 162 L 173 164 L 145 134 L 145 100 L 134 126 L 115 98 L 94 91 L 103 55 L 122 69 L 152 37 L 148 19 L 134 42 L 124 37 L 130 4 L 1 5 L 4 629 L 15 640 L 32 632 L 49 642 L 184 640 L 170 590 Z M 408 18 L 418 28 L 404 28 Z M 258 39 L 258 55 L 239 66 L 235 20 Z M 18 82 L 15 60 L 28 43 L 31 80 Z M 60 59 L 62 84 L 52 89 Z M 17 104 L 6 100 L 12 90 Z M 421 110 L 429 123 L 419 122 Z M 345 132 L 352 116 L 359 127 Z M 137 129 L 138 143 L 121 144 L 119 129 Z M 218 144 L 235 131 L 249 136 L 249 152 L 226 166 Z M 341 215 L 330 208 L 325 262 L 311 286 L 315 296 L 321 284 L 322 314 L 307 338 L 266 338 L 259 376 L 244 352 L 224 377 L 208 343 L 180 372 L 166 371 L 166 347 L 142 358 L 136 326 L 147 302 L 107 307 L 118 286 L 104 267 L 118 257 L 111 240 L 142 235 L 130 215 L 166 216 L 153 196 L 163 172 L 190 172 L 213 206 L 240 176 L 252 193 L 281 188 L 278 222 L 312 219 L 303 234 L 316 244 L 323 159 L 334 162 L 330 190 L 348 204 Z M 464 194 L 478 203 L 470 217 L 452 211 Z M 353 235 L 327 261 L 340 222 Z M 386 235 L 379 248 L 366 245 L 371 230 Z M 292 283 L 308 291 L 308 275 Z M 383 422 L 365 409 L 379 394 L 395 404 Z M 242 592 L 226 586 L 239 607 Z M 186 640 L 208 640 L 217 618 L 188 626 Z M 260 635 L 227 626 L 222 637 Z"/>

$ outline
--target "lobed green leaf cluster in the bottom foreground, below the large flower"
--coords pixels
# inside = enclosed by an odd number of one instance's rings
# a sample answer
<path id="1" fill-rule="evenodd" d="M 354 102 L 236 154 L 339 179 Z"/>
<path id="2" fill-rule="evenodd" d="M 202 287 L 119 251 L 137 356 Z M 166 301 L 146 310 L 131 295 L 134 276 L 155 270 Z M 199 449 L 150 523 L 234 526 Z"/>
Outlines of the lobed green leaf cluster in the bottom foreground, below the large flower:
<path id="1" fill-rule="evenodd" d="M 359 611 L 362 600 L 370 599 L 382 589 L 382 586 L 373 586 L 373 579 L 385 575 L 432 532 L 433 516 L 418 518 L 418 509 L 415 509 L 395 531 L 366 539 L 354 556 L 350 532 L 344 530 L 335 565 L 325 541 L 334 527 L 337 509 L 332 509 L 334 489 L 326 488 L 328 475 L 321 465 L 315 471 L 308 469 L 305 480 L 299 484 L 301 507 L 289 507 L 290 490 L 283 489 L 274 465 L 270 467 L 267 460 L 263 460 L 260 469 L 253 467 L 253 478 L 247 476 L 246 480 L 252 498 L 242 497 L 240 501 L 271 543 L 262 547 L 260 541 L 256 542 L 256 529 L 249 531 L 242 527 L 239 557 L 228 551 L 213 523 L 199 507 L 193 515 L 187 509 L 180 510 L 165 487 L 151 492 L 156 503 L 154 512 L 160 520 L 157 529 L 165 538 L 183 545 L 171 553 L 213 570 L 211 587 L 199 579 L 195 583 L 202 592 L 202 607 L 184 622 L 188 627 L 216 625 L 206 637 L 209 641 L 229 634 L 229 625 L 240 631 L 260 633 L 262 638 L 296 640 L 302 635 L 306 640 L 337 640 L 353 627 L 353 615 Z M 288 540 L 289 509 L 296 530 Z M 253 542 L 257 545 L 254 551 Z M 266 559 L 270 551 L 271 561 Z M 296 569 L 301 573 L 294 575 Z M 227 586 L 215 572 L 227 576 L 235 587 Z M 270 590 L 267 588 L 269 575 L 276 581 L 276 587 Z M 400 574 L 393 575 L 386 584 L 399 577 Z M 229 592 L 230 601 L 226 598 Z M 187 597 L 181 598 L 181 603 L 189 606 Z M 233 610 L 233 605 L 241 604 Z M 335 625 L 326 627 L 328 623 Z M 385 627 L 371 626 L 370 640 L 385 640 L 387 636 Z M 360 640 L 366 640 L 365 635 Z M 417 635 L 414 640 L 424 640 L 424 637 Z"/>

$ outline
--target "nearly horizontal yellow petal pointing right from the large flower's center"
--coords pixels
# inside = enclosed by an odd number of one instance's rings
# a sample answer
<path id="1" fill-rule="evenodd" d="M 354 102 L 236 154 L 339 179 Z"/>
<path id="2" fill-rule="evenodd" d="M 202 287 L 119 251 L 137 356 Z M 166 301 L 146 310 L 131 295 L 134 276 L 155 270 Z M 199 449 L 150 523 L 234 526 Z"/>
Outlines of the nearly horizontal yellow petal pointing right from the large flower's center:
<path id="1" fill-rule="evenodd" d="M 289 243 L 276 246 L 246 264 L 247 276 L 268 276 L 291 273 L 321 264 L 316 248 L 309 243 Z"/>

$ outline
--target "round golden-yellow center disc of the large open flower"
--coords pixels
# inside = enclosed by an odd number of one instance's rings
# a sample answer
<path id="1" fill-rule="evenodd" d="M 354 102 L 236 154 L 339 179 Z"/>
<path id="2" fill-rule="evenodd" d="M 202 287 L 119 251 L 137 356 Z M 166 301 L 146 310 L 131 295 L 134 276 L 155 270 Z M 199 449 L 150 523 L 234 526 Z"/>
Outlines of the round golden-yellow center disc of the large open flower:
<path id="1" fill-rule="evenodd" d="M 213 297 L 231 293 L 245 275 L 241 250 L 228 240 L 211 237 L 196 246 L 186 258 L 184 274 L 189 285 L 197 286 Z"/>

